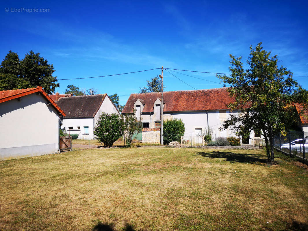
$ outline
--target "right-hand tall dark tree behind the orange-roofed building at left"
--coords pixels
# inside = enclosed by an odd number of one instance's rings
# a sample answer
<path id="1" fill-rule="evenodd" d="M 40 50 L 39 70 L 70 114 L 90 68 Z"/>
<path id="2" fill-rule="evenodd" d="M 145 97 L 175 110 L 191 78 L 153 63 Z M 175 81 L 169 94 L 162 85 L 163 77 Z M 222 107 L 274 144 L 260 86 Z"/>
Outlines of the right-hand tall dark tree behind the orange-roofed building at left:
<path id="1" fill-rule="evenodd" d="M 56 87 L 60 86 L 56 83 L 57 77 L 52 76 L 54 72 L 53 64 L 49 64 L 47 59 L 40 57 L 40 53 L 30 51 L 21 61 L 22 78 L 29 81 L 31 87 L 42 86 L 47 94 L 51 94 Z"/>

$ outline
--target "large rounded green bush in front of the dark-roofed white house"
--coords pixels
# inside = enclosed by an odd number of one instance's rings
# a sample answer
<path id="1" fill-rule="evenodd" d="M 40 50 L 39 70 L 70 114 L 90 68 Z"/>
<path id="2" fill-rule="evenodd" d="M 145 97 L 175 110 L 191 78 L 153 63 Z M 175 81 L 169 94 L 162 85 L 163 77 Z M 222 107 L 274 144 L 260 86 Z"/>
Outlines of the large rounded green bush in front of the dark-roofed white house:
<path id="1" fill-rule="evenodd" d="M 112 113 L 103 112 L 99 116 L 99 120 L 94 128 L 94 135 L 97 136 L 100 142 L 103 142 L 107 147 L 118 140 L 125 130 L 123 116 Z"/>

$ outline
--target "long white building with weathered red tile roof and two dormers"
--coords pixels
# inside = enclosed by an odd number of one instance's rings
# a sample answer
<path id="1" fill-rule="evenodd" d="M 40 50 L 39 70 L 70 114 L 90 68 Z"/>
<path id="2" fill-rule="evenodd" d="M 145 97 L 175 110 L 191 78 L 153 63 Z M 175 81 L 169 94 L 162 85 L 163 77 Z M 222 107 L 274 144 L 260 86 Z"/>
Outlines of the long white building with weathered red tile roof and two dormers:
<path id="1" fill-rule="evenodd" d="M 221 125 L 231 114 L 226 106 L 233 102 L 227 88 L 215 88 L 193 91 L 164 92 L 164 120 L 171 118 L 182 119 L 185 124 L 184 136 L 200 136 L 201 131 L 213 129 L 215 137 L 236 136 L 231 130 L 220 131 Z M 161 123 L 161 92 L 131 94 L 122 114 L 136 110 L 137 119 L 141 119 L 144 128 L 158 128 Z M 249 139 L 244 144 L 254 144 L 255 134 L 251 131 Z"/>

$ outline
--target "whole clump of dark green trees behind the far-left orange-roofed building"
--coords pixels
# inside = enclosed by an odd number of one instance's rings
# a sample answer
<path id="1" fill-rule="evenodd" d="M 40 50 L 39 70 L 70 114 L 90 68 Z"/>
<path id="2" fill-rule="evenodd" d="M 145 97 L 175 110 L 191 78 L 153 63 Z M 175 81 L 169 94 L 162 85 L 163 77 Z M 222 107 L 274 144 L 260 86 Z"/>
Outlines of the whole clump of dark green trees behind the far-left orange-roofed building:
<path id="1" fill-rule="evenodd" d="M 47 60 L 40 57 L 40 53 L 30 51 L 21 61 L 17 53 L 9 51 L 0 66 L 0 81 L 2 90 L 12 90 L 42 86 L 51 94 L 59 87 L 57 77 L 52 76 L 55 69 Z"/>

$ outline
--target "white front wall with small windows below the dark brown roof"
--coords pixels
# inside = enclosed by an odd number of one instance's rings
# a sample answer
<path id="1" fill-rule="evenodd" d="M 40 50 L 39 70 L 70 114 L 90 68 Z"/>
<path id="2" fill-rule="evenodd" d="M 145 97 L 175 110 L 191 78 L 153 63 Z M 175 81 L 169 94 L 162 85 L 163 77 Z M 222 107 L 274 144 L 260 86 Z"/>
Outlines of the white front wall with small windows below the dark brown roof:
<path id="1" fill-rule="evenodd" d="M 83 127 L 89 127 L 89 133 L 84 133 Z M 73 127 L 73 130 L 69 130 L 68 127 Z M 80 129 L 78 129 L 80 127 Z M 67 134 L 78 134 L 78 139 L 93 139 L 93 118 L 63 118 L 61 128 L 65 128 Z"/>

